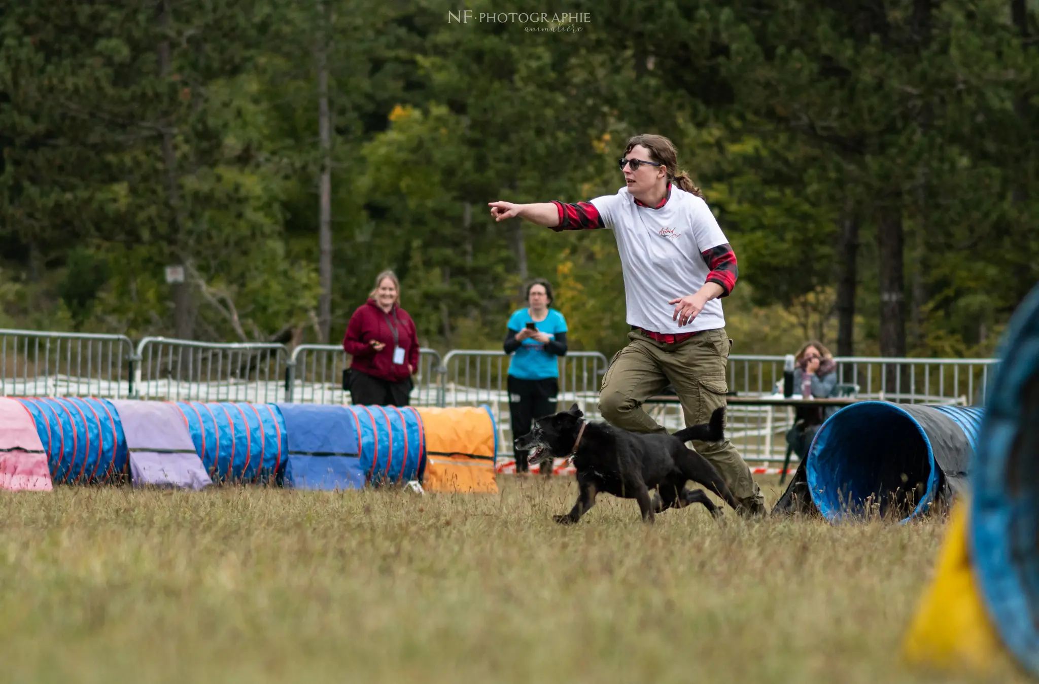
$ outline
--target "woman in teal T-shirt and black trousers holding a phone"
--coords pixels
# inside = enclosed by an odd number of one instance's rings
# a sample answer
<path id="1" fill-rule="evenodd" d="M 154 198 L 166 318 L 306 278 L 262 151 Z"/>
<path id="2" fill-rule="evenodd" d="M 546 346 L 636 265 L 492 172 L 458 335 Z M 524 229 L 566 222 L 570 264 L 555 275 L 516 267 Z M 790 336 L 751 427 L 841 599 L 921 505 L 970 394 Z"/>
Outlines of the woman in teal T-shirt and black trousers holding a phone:
<path id="1" fill-rule="evenodd" d="M 566 319 L 552 308 L 552 285 L 543 278 L 527 285 L 527 308 L 509 318 L 505 353 L 509 360 L 509 414 L 512 437 L 530 432 L 534 418 L 556 412 L 559 393 L 559 364 L 556 357 L 566 355 Z M 515 449 L 516 472 L 529 472 L 528 453 Z M 541 465 L 552 475 L 552 464 Z"/>

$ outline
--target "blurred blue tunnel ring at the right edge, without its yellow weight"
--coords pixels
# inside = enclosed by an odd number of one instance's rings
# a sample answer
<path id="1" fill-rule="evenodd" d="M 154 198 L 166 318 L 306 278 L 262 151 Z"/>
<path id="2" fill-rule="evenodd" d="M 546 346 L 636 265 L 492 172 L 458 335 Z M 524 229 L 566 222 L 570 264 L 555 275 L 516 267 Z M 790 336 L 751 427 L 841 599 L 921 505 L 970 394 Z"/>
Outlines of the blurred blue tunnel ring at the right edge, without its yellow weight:
<path id="1" fill-rule="evenodd" d="M 973 465 L 975 577 L 1004 644 L 1039 676 L 1039 285 L 1010 321 Z"/>

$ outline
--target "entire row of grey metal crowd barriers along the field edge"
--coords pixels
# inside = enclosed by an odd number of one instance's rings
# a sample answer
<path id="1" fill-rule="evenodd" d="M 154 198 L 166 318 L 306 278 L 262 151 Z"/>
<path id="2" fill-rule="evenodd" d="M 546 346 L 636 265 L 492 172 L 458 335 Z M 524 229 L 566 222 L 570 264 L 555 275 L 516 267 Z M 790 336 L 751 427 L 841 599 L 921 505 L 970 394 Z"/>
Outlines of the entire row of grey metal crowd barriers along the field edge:
<path id="1" fill-rule="evenodd" d="M 510 455 L 509 357 L 502 351 L 422 349 L 416 406 L 487 404 L 498 421 L 502 454 Z M 767 395 L 781 389 L 782 356 L 732 355 L 730 391 Z M 997 359 L 834 359 L 838 382 L 858 396 L 903 403 L 982 403 Z M 210 344 L 145 337 L 136 349 L 124 335 L 0 329 L 0 394 L 144 400 L 349 403 L 342 388 L 349 357 L 339 346 L 302 345 L 291 356 L 282 345 Z M 608 366 L 598 352 L 569 352 L 559 360 L 559 407 L 577 403 L 592 419 Z M 669 431 L 685 426 L 677 405 L 646 405 Z M 748 461 L 778 461 L 793 425 L 787 408 L 730 406 L 727 434 Z"/>

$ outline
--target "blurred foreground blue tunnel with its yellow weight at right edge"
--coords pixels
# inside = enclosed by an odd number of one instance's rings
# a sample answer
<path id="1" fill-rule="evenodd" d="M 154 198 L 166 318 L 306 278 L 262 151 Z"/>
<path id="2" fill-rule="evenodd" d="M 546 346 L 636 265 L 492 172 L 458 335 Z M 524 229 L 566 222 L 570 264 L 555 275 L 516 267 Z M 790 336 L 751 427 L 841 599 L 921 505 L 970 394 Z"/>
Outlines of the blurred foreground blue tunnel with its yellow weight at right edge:
<path id="1" fill-rule="evenodd" d="M 1039 677 L 1039 286 L 1015 311 L 969 477 L 904 644 L 913 663 Z"/>

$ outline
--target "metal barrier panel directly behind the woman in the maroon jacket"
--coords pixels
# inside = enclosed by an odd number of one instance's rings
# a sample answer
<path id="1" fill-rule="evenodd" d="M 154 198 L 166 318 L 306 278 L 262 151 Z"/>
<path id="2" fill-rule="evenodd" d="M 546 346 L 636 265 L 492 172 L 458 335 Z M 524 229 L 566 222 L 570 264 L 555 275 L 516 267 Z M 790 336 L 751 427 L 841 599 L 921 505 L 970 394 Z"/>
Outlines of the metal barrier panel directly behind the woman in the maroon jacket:
<path id="1" fill-rule="evenodd" d="M 285 401 L 296 404 L 349 404 L 343 371 L 349 355 L 337 345 L 300 345 L 286 364 Z M 441 355 L 419 349 L 419 368 L 411 389 L 412 406 L 439 406 Z"/>

